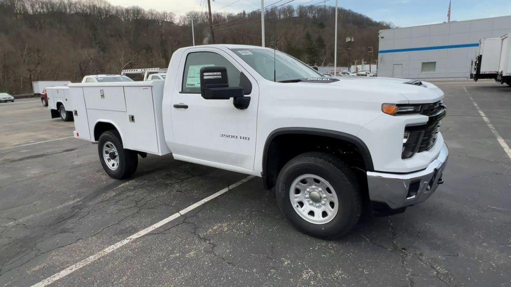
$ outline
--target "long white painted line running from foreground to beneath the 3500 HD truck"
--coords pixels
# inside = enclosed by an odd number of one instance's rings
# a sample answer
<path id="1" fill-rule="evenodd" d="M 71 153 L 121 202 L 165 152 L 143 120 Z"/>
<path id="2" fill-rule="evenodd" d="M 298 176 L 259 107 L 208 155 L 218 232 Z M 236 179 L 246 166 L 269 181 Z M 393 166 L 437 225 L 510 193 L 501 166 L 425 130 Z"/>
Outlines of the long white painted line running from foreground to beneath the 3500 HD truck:
<path id="1" fill-rule="evenodd" d="M 252 178 L 253 178 L 253 176 L 247 176 L 244 179 L 242 179 L 242 180 L 240 180 L 240 181 L 238 181 L 238 182 L 236 182 L 234 184 L 231 184 L 231 185 L 229 185 L 229 186 L 219 190 L 218 192 L 216 192 L 216 193 L 214 193 L 214 194 L 212 194 L 212 195 L 210 195 L 210 196 L 208 196 L 208 197 L 206 197 L 206 198 L 204 198 L 204 199 L 202 199 L 202 200 L 200 200 L 200 201 L 198 201 L 198 202 L 188 206 L 187 208 L 184 208 L 181 211 L 178 211 L 178 212 L 172 214 L 170 217 L 168 217 L 168 218 L 166 218 L 166 219 L 164 219 L 162 221 L 159 221 L 159 222 L 157 222 L 157 223 L 155 223 L 155 224 L 153 224 L 153 225 L 151 225 L 151 226 L 149 226 L 149 227 L 147 227 L 145 229 L 142 229 L 141 231 L 138 231 L 137 233 L 135 233 L 135 234 L 133 234 L 133 235 L 131 235 L 129 237 L 126 237 L 125 239 L 119 241 L 118 243 L 110 245 L 107 248 L 101 250 L 100 252 L 98 252 L 98 253 L 96 253 L 94 255 L 91 255 L 91 256 L 89 256 L 89 257 L 87 257 L 85 259 L 83 259 L 82 261 L 78 262 L 77 264 L 69 266 L 66 269 L 60 271 L 59 273 L 56 273 L 55 275 L 50 276 L 50 277 L 42 280 L 41 282 L 32 285 L 32 287 L 44 287 L 44 286 L 47 286 L 49 284 L 52 284 L 53 282 L 55 282 L 55 281 L 65 277 L 65 276 L 67 276 L 67 275 L 77 271 L 78 269 L 80 269 L 80 268 L 90 264 L 91 262 L 94 262 L 94 261 L 98 260 L 99 258 L 107 255 L 108 253 L 110 253 L 112 251 L 115 251 L 116 249 L 118 249 L 120 247 L 123 247 L 124 245 L 126 245 L 126 244 L 132 242 L 133 240 L 135 240 L 136 238 L 142 237 L 142 236 L 146 235 L 147 233 L 149 233 L 151 231 L 154 231 L 155 229 L 157 229 L 157 228 L 159 228 L 161 226 L 164 226 L 165 224 L 173 221 L 174 219 L 181 217 L 185 213 L 193 210 L 194 208 L 197 208 L 197 207 L 203 205 L 204 203 L 206 203 L 206 202 L 208 202 L 208 201 L 210 201 L 212 199 L 215 199 L 215 198 L 223 195 L 224 193 L 228 192 L 229 190 L 231 190 L 231 189 L 233 189 L 233 188 L 235 188 L 237 186 L 240 186 L 241 184 L 249 181 Z"/>

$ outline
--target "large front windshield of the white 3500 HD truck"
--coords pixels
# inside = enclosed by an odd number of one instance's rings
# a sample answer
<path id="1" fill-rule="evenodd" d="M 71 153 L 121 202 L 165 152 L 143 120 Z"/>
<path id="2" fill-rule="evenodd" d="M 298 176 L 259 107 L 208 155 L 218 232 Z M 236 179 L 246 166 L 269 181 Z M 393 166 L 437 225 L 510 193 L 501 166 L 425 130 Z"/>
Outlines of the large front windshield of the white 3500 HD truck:
<path id="1" fill-rule="evenodd" d="M 280 51 L 257 48 L 230 50 L 235 52 L 266 80 L 283 82 L 323 76 L 303 62 Z"/>

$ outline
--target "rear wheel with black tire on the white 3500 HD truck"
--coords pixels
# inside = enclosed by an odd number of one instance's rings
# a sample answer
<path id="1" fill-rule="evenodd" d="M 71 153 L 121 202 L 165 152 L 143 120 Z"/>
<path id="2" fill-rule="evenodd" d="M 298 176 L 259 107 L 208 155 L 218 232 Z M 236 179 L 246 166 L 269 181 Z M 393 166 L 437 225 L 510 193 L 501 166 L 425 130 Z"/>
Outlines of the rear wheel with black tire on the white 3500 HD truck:
<path id="1" fill-rule="evenodd" d="M 138 166 L 138 154 L 123 148 L 121 136 L 115 130 L 101 134 L 98 141 L 98 154 L 103 169 L 111 178 L 131 177 Z"/>

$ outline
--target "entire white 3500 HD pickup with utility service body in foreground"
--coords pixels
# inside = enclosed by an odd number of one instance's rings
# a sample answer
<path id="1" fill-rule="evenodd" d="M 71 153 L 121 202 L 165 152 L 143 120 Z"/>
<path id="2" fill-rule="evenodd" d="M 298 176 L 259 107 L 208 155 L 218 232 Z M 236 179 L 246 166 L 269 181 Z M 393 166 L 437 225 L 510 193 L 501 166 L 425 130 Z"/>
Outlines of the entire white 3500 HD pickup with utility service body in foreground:
<path id="1" fill-rule="evenodd" d="M 299 230 L 350 231 L 362 210 L 428 199 L 448 158 L 444 93 L 401 79 L 322 77 L 295 58 L 245 45 L 184 47 L 164 81 L 70 84 L 75 137 L 98 143 L 106 173 L 138 155 L 263 178 Z"/>

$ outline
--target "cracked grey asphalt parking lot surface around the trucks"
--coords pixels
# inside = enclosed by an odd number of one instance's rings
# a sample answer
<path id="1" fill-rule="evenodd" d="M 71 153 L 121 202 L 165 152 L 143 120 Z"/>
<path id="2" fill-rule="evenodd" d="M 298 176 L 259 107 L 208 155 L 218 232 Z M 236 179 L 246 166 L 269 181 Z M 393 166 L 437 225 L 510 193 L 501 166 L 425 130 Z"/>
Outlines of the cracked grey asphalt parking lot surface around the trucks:
<path id="1" fill-rule="evenodd" d="M 35 99 L 0 104 L 0 285 L 60 274 L 43 282 L 510 286 L 511 158 L 502 142 L 511 146 L 511 87 L 435 84 L 446 94 L 451 155 L 445 184 L 425 203 L 324 241 L 295 231 L 253 178 L 64 273 L 246 176 L 148 156 L 133 179 L 113 180 L 97 146 L 71 138 L 73 122 L 50 119 Z"/>

